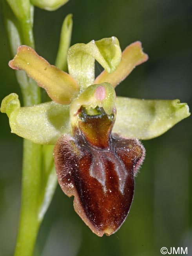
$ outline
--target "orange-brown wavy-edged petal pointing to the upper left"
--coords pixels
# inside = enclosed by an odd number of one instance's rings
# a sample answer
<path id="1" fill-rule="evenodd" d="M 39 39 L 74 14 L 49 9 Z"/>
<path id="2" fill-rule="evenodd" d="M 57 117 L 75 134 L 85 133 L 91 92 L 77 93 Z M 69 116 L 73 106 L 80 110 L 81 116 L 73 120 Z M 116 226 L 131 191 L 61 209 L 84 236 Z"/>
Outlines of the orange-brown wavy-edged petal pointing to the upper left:
<path id="1" fill-rule="evenodd" d="M 24 70 L 55 102 L 69 104 L 78 95 L 78 83 L 69 74 L 50 65 L 29 46 L 18 47 L 16 56 L 9 61 L 9 66 L 12 69 Z"/>

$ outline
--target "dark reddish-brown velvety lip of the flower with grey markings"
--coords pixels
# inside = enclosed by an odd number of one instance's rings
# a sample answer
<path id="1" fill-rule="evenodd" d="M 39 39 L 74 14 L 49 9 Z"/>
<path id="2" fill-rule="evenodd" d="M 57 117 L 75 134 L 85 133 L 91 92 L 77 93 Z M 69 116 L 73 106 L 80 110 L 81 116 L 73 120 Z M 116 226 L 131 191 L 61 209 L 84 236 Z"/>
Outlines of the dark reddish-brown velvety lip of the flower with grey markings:
<path id="1" fill-rule="evenodd" d="M 102 97 L 101 88 L 97 93 Z M 125 221 L 145 156 L 137 139 L 111 133 L 115 116 L 115 108 L 107 115 L 102 107 L 81 107 L 74 136 L 63 135 L 54 148 L 59 184 L 74 195 L 75 211 L 98 236 L 113 234 Z"/>

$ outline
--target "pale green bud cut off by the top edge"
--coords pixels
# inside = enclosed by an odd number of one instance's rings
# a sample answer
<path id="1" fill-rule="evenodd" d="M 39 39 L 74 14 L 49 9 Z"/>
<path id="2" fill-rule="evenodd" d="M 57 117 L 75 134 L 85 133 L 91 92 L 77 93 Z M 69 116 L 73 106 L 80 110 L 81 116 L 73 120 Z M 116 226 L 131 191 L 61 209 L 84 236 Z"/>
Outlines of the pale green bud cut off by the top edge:
<path id="1" fill-rule="evenodd" d="M 69 0 L 31 0 L 31 3 L 41 9 L 54 11 L 66 4 L 68 1 Z"/>

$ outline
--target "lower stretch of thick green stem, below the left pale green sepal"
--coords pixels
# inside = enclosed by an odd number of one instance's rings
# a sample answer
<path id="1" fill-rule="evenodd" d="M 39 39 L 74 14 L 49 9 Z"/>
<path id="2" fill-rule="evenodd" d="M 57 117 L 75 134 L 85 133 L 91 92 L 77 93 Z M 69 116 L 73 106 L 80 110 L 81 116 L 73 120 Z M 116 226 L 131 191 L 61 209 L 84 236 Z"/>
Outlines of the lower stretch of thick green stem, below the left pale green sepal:
<path id="1" fill-rule="evenodd" d="M 31 256 L 38 234 L 38 195 L 41 182 L 41 146 L 24 139 L 22 202 L 14 256 Z"/>

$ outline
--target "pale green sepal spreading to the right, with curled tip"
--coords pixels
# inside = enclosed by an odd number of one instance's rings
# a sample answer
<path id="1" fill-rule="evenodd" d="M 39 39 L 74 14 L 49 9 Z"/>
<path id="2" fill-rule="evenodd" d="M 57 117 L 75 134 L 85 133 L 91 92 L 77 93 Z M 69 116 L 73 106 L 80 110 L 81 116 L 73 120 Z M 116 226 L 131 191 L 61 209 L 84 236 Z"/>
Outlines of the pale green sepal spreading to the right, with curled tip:
<path id="1" fill-rule="evenodd" d="M 113 132 L 129 138 L 152 139 L 190 115 L 179 100 L 139 100 L 117 97 Z"/>

